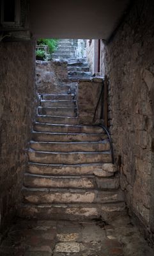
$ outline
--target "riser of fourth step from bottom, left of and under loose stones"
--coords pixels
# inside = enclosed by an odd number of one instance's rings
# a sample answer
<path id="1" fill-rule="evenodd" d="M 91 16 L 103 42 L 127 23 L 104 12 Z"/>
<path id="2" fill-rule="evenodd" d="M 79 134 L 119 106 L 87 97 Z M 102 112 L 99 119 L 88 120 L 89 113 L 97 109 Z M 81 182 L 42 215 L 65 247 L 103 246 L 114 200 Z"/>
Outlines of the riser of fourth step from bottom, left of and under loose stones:
<path id="1" fill-rule="evenodd" d="M 94 172 L 101 173 L 102 177 L 111 177 L 114 172 L 105 172 L 102 170 L 103 164 L 96 165 L 43 165 L 43 164 L 29 164 L 28 172 L 40 175 L 93 175 Z"/>

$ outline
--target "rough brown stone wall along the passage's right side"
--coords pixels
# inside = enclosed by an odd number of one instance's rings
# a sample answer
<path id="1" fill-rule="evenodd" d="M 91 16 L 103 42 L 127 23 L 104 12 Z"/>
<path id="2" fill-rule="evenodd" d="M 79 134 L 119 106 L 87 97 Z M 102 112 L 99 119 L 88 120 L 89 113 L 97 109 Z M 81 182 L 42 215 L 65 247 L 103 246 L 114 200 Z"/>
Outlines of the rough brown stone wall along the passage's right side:
<path id="1" fill-rule="evenodd" d="M 134 1 L 107 45 L 107 74 L 110 130 L 121 188 L 130 211 L 154 233 L 153 13 L 152 0 Z"/>

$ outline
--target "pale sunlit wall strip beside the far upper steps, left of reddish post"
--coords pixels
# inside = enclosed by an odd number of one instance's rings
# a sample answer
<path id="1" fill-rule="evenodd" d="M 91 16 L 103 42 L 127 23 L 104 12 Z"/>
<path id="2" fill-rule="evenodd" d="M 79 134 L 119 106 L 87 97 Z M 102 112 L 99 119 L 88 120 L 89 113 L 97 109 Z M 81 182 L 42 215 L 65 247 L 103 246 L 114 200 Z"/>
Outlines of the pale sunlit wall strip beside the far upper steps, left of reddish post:
<path id="1" fill-rule="evenodd" d="M 91 74 L 93 74 L 93 70 L 94 70 L 94 40 L 91 41 L 91 44 L 89 44 L 89 40 L 87 40 L 86 42 L 86 56 L 87 56 L 87 60 L 89 63 L 89 68 L 90 68 L 90 72 Z"/>

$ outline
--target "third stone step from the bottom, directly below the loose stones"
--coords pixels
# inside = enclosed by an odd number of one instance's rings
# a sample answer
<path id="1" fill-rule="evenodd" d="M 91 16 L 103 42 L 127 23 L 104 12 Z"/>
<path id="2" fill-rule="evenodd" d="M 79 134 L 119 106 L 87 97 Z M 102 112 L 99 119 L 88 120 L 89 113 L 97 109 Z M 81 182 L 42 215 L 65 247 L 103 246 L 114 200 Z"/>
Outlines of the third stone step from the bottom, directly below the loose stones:
<path id="1" fill-rule="evenodd" d="M 75 188 L 75 189 L 118 189 L 116 177 L 87 176 L 45 176 L 25 173 L 24 186 L 27 188 Z"/>

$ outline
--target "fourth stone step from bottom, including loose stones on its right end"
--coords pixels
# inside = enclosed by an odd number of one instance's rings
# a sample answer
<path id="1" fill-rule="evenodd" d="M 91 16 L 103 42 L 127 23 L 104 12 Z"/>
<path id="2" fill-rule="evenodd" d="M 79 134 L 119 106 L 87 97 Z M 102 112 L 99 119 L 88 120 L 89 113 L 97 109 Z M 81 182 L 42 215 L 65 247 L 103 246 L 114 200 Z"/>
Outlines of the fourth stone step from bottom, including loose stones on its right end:
<path id="1" fill-rule="evenodd" d="M 113 164 L 40 164 L 28 163 L 27 172 L 40 175 L 96 175 L 97 177 L 111 177 L 117 172 Z"/>

